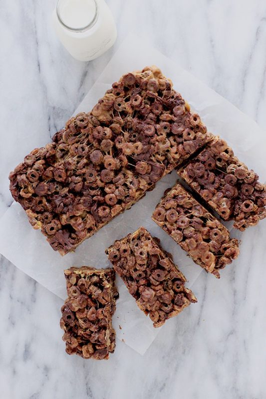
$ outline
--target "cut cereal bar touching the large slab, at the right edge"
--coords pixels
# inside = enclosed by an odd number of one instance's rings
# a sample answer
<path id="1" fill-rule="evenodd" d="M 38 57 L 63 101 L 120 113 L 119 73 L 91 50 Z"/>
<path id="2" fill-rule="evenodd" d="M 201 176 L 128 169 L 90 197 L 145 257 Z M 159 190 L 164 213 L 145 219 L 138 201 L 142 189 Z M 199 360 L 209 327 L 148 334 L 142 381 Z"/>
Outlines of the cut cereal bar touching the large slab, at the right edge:
<path id="1" fill-rule="evenodd" d="M 266 186 L 218 136 L 178 174 L 224 220 L 235 220 L 234 227 L 241 231 L 266 217 Z"/>

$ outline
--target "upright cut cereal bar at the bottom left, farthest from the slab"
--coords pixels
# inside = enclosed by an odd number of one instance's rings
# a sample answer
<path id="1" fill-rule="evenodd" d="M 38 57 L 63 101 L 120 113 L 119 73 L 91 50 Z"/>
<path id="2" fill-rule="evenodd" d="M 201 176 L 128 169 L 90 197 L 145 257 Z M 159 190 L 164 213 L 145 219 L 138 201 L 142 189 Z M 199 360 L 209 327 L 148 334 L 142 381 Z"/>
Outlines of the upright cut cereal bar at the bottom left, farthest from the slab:
<path id="1" fill-rule="evenodd" d="M 60 327 L 69 355 L 108 359 L 115 349 L 112 316 L 118 292 L 113 269 L 71 267 L 64 272 L 68 298 L 61 308 Z"/>

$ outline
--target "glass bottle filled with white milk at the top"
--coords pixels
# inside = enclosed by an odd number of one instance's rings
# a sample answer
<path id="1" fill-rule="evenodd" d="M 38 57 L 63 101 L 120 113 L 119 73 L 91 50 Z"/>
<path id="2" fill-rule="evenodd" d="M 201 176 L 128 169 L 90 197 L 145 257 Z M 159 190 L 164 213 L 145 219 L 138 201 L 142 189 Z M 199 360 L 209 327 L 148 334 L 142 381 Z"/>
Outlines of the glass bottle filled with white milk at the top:
<path id="1" fill-rule="evenodd" d="M 116 26 L 104 0 L 58 0 L 55 31 L 66 50 L 79 61 L 90 61 L 115 42 Z"/>

